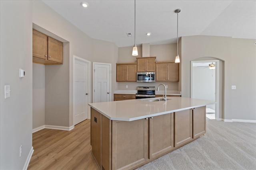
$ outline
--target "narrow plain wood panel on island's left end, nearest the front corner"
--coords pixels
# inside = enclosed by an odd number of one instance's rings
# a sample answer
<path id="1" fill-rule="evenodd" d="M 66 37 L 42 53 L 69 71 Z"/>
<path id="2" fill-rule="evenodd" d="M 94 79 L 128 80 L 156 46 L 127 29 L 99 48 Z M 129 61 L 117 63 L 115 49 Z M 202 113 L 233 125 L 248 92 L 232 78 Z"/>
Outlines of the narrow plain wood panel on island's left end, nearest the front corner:
<path id="1" fill-rule="evenodd" d="M 102 167 L 104 170 L 111 170 L 111 127 L 111 120 L 102 115 Z"/>

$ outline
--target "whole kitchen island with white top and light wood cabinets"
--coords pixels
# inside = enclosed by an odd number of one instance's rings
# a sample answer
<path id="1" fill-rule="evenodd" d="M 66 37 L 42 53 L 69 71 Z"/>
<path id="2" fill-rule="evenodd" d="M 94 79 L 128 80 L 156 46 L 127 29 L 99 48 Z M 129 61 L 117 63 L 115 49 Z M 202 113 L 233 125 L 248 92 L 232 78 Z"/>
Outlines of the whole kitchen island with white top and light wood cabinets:
<path id="1" fill-rule="evenodd" d="M 137 168 L 206 132 L 206 105 L 215 102 L 154 99 L 161 98 L 89 104 L 92 154 L 100 169 Z"/>

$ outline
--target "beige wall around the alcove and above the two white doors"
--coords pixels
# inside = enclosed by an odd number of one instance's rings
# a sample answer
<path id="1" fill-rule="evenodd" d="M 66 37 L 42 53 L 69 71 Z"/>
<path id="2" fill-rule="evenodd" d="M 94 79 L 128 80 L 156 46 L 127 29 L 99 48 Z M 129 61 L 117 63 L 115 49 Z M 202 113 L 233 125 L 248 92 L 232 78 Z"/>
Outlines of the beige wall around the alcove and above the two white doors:
<path id="1" fill-rule="evenodd" d="M 48 65 L 45 68 L 45 124 L 71 127 L 73 125 L 73 56 L 81 57 L 92 64 L 112 64 L 112 91 L 117 89 L 115 64 L 118 47 L 111 42 L 90 38 L 42 1 L 33 1 L 33 23 L 47 35 L 56 36 L 64 43 L 63 65 Z M 92 102 L 91 81 L 91 102 Z"/>

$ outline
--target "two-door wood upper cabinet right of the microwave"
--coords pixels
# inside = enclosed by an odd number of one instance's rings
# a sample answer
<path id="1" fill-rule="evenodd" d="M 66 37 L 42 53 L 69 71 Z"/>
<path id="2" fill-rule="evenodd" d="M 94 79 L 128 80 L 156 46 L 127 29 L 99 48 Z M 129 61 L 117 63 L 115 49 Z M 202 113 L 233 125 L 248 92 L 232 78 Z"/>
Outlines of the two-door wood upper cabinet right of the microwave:
<path id="1" fill-rule="evenodd" d="M 156 81 L 179 81 L 179 63 L 156 62 Z"/>

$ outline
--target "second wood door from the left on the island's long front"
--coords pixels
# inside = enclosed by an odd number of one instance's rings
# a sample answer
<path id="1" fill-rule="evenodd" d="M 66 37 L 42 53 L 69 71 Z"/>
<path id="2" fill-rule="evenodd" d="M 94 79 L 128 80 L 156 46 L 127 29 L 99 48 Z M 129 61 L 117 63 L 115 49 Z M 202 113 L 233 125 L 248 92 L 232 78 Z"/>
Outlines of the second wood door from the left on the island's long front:
<path id="1" fill-rule="evenodd" d="M 149 158 L 157 158 L 174 148 L 174 113 L 149 118 Z"/>

